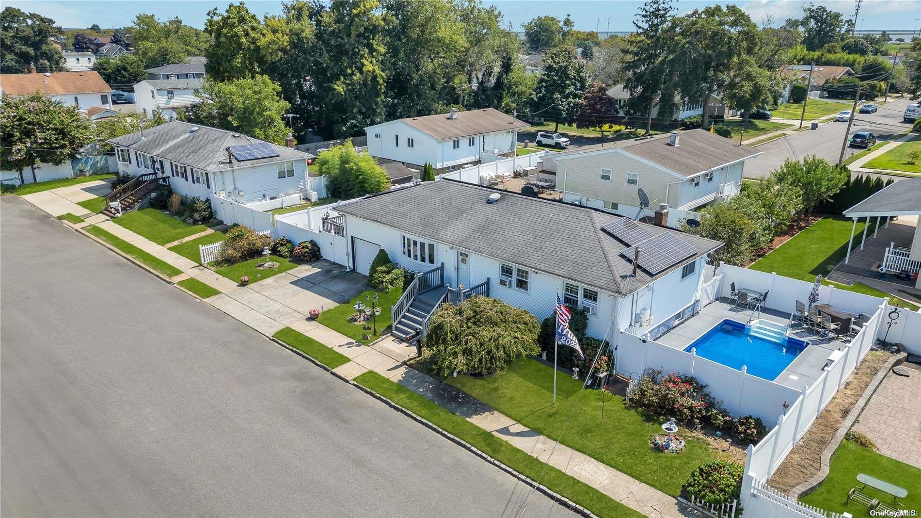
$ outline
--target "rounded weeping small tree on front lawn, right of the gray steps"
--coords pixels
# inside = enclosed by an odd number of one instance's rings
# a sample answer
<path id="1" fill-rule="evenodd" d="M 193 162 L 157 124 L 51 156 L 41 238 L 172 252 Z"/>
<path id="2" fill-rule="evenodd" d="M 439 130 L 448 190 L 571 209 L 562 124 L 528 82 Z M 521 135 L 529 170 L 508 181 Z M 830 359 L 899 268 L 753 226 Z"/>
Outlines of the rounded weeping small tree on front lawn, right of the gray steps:
<path id="1" fill-rule="evenodd" d="M 534 315 L 502 300 L 472 296 L 457 306 L 442 304 L 426 334 L 436 374 L 491 374 L 535 355 L 540 325 Z"/>

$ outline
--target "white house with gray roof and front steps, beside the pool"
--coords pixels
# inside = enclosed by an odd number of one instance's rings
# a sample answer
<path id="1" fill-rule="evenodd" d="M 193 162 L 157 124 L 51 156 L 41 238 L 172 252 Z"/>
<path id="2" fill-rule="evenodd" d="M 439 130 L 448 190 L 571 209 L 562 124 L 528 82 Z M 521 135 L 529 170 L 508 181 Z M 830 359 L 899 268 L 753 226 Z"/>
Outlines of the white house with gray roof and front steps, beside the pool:
<path id="1" fill-rule="evenodd" d="M 587 310 L 589 336 L 607 335 L 613 343 L 612 335 L 631 324 L 641 335 L 694 308 L 706 257 L 722 246 L 589 207 L 452 180 L 392 189 L 334 210 L 343 217 L 349 266 L 358 273 L 367 275 L 381 249 L 411 271 L 437 269 L 426 276 L 435 279 L 436 286 L 426 286 L 432 291 L 396 315 L 394 334 L 410 339 L 434 311 L 426 300 L 459 284 L 539 319 L 553 314 L 559 293 Z"/>

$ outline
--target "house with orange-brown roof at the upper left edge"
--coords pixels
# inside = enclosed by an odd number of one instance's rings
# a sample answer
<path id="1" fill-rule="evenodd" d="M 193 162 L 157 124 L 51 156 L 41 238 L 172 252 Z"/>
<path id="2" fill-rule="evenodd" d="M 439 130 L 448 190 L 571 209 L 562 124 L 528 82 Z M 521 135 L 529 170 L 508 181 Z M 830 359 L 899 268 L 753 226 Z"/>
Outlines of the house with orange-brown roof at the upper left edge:
<path id="1" fill-rule="evenodd" d="M 92 70 L 3 74 L 0 75 L 0 92 L 13 97 L 39 92 L 65 106 L 76 106 L 80 111 L 87 111 L 94 106 L 111 108 L 111 88 L 99 76 L 99 72 Z"/>

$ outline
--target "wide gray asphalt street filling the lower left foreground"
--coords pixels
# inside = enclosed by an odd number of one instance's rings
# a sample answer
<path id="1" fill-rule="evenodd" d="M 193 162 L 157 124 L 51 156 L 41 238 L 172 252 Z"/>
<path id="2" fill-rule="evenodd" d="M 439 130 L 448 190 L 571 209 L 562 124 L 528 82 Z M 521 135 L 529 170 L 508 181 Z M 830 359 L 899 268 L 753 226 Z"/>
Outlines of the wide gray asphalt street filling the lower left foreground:
<path id="1" fill-rule="evenodd" d="M 510 516 L 528 488 L 16 196 L 4 516 Z M 527 515 L 565 515 L 534 494 Z"/>

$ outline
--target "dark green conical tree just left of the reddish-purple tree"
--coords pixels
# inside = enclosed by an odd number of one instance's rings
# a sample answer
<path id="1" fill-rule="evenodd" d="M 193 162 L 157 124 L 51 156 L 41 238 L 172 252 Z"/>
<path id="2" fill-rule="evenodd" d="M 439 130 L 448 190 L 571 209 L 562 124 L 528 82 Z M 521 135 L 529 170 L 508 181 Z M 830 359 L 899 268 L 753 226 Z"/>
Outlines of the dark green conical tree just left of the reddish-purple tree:
<path id="1" fill-rule="evenodd" d="M 534 112 L 544 119 L 560 123 L 576 119 L 578 103 L 585 96 L 585 63 L 576 55 L 576 49 L 561 46 L 553 49 L 543 59 L 543 72 L 534 88 Z"/>

